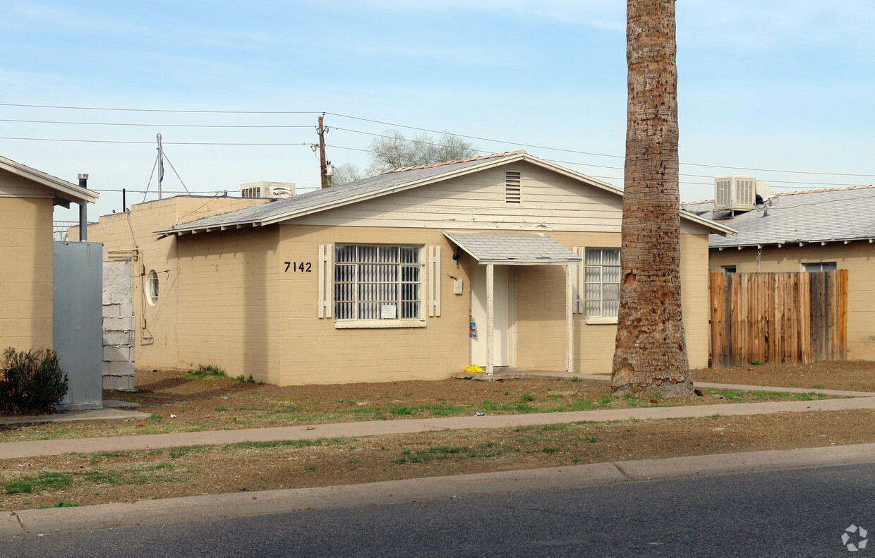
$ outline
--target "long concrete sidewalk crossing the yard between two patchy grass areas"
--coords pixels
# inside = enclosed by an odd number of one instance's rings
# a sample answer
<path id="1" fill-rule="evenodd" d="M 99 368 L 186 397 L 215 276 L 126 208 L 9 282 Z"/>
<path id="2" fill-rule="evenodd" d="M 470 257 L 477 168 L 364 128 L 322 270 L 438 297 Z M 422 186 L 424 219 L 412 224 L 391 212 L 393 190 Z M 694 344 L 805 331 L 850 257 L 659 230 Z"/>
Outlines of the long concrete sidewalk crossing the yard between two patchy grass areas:
<path id="1" fill-rule="evenodd" d="M 266 429 L 208 430 L 172 432 L 142 436 L 75 438 L 0 443 L 0 458 L 52 456 L 64 453 L 136 451 L 240 442 L 315 440 L 437 432 L 458 429 L 501 429 L 557 424 L 561 422 L 605 422 L 672 418 L 703 418 L 713 415 L 770 415 L 774 413 L 814 412 L 817 410 L 873 409 L 875 398 L 822 399 L 816 401 L 766 401 L 761 403 L 723 403 L 690 407 L 649 407 L 535 413 L 530 415 L 449 416 L 445 418 L 402 419 L 394 421 L 333 422 Z"/>

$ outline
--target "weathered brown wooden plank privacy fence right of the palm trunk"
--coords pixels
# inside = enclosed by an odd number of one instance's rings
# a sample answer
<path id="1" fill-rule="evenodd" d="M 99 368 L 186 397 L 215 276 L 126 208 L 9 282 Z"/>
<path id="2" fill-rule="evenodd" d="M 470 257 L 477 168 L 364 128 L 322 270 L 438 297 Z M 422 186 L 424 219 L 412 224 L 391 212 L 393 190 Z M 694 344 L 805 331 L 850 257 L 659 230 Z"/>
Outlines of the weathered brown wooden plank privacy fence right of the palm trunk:
<path id="1" fill-rule="evenodd" d="M 711 274 L 711 366 L 846 359 L 848 270 Z"/>

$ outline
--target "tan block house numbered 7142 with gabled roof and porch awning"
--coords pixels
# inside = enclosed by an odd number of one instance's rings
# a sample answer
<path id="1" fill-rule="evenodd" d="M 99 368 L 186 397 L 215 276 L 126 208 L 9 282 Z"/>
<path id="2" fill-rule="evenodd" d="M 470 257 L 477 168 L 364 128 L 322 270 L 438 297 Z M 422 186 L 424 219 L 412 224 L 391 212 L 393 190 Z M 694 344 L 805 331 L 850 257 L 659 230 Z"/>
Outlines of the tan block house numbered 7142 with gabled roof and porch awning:
<path id="1" fill-rule="evenodd" d="M 621 214 L 620 189 L 514 151 L 288 199 L 165 199 L 88 236 L 137 257 L 140 368 L 216 364 L 280 385 L 471 363 L 607 373 Z M 707 366 L 708 234 L 734 231 L 682 217 L 690 365 Z"/>

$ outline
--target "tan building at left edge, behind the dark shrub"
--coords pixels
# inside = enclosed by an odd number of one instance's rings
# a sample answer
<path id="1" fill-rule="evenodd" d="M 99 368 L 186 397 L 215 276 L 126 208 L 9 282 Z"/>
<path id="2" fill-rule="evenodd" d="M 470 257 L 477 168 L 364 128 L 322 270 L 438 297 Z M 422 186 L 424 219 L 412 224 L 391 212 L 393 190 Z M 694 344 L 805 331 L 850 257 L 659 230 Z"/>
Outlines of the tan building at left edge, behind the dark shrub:
<path id="1" fill-rule="evenodd" d="M 0 157 L 0 350 L 52 348 L 52 211 L 97 197 Z"/>

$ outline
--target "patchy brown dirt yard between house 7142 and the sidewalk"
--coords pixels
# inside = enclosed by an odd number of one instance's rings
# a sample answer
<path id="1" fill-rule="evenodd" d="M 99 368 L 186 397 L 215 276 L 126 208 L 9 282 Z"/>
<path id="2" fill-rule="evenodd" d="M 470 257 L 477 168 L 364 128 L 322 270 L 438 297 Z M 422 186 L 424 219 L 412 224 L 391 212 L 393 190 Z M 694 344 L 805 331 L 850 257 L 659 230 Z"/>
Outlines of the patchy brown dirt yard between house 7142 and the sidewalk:
<path id="1" fill-rule="evenodd" d="M 695 371 L 694 379 L 837 388 L 856 386 L 875 391 L 875 367 L 860 363 L 839 373 L 813 368 L 800 383 L 795 370 L 773 367 L 768 374 L 744 369 Z M 872 363 L 875 364 L 875 363 Z M 760 367 L 758 367 L 759 369 Z M 789 367 L 785 367 L 789 368 Z M 831 375 L 830 375 L 831 374 Z M 843 375 L 844 374 L 844 375 Z M 869 379 L 872 376 L 872 379 Z M 866 382 L 869 382 L 868 384 Z M 151 418 L 127 421 L 55 422 L 0 426 L 0 443 L 53 438 L 131 436 L 165 432 L 252 429 L 321 422 L 383 421 L 432 416 L 507 415 L 584 411 L 601 408 L 664 407 L 713 403 L 781 401 L 817 398 L 790 395 L 703 390 L 701 397 L 657 400 L 648 397 L 614 398 L 606 382 L 545 378 L 475 381 L 397 381 L 388 383 L 331 384 L 277 387 L 231 380 L 227 377 L 192 377 L 180 372 L 138 372 L 137 393 L 105 392 L 104 399 L 140 405 Z"/>

